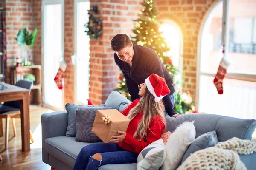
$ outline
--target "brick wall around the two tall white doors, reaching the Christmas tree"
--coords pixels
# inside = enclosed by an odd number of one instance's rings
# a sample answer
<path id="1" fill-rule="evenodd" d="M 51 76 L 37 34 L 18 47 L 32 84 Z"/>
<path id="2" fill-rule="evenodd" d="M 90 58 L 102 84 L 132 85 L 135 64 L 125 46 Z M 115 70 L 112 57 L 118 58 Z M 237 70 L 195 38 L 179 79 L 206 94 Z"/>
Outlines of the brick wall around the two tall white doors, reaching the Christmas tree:
<path id="1" fill-rule="evenodd" d="M 118 33 L 131 35 L 133 20 L 137 18 L 142 0 L 91 0 L 91 7 L 98 6 L 96 17 L 102 18 L 103 35 L 99 40 L 90 40 L 90 99 L 93 104 L 104 103 L 116 88 L 119 68 L 114 62 L 111 39 Z M 34 23 L 38 37 L 34 47 L 34 61 L 41 63 L 41 0 L 34 2 Z M 71 56 L 74 53 L 74 0 L 65 0 L 64 14 L 64 58 L 67 62 L 65 74 L 65 103 L 74 102 L 74 66 Z"/>

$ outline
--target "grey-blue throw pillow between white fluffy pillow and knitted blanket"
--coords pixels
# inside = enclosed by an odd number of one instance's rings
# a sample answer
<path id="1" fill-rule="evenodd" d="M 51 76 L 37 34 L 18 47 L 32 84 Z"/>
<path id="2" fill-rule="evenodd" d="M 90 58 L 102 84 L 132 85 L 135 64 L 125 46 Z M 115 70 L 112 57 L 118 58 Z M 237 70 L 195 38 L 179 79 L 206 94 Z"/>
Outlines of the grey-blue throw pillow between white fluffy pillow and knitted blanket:
<path id="1" fill-rule="evenodd" d="M 218 138 L 215 130 L 198 136 L 186 150 L 186 153 L 184 154 L 181 163 L 183 163 L 192 153 L 195 153 L 198 150 L 215 146 L 215 144 L 217 143 Z"/>

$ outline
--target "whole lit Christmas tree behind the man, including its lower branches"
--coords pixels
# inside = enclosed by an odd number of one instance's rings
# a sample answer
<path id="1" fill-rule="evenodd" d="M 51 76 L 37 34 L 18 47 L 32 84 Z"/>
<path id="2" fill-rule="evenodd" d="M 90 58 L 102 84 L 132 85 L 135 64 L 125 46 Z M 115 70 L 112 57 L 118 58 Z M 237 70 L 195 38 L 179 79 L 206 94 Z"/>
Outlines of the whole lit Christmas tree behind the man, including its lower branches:
<path id="1" fill-rule="evenodd" d="M 175 81 L 175 76 L 179 73 L 179 71 L 173 65 L 172 59 L 167 54 L 167 52 L 170 51 L 170 48 L 166 44 L 165 39 L 161 36 L 162 32 L 159 31 L 161 22 L 157 18 L 157 8 L 153 6 L 153 0 L 144 0 L 142 6 L 143 8 L 138 19 L 135 20 L 135 26 L 132 30 L 135 36 L 132 37 L 131 40 L 134 44 L 153 49 Z M 131 99 L 122 73 L 119 74 L 118 77 L 120 82 L 115 90 L 126 98 Z M 182 90 L 178 90 L 177 93 L 175 92 L 175 111 L 183 114 L 191 109 L 192 103 L 185 103 L 181 99 L 181 94 Z"/>

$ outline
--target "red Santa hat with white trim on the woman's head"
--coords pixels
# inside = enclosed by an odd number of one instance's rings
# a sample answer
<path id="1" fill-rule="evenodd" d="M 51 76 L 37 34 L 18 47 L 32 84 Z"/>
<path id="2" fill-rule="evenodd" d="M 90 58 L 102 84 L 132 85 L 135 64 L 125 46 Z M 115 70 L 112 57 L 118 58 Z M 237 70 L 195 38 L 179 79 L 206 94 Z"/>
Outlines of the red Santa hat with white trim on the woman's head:
<path id="1" fill-rule="evenodd" d="M 151 74 L 145 80 L 148 91 L 155 97 L 155 102 L 159 102 L 164 96 L 170 93 L 170 90 L 164 78 L 157 74 Z"/>

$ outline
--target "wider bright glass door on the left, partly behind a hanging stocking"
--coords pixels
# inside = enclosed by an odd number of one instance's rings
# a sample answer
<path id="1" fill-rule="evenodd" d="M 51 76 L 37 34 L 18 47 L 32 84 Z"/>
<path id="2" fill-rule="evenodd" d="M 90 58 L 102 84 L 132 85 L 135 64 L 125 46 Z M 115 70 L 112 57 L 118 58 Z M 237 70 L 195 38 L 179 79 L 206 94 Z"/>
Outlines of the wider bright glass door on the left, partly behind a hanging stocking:
<path id="1" fill-rule="evenodd" d="M 64 54 L 64 0 L 42 1 L 43 102 L 49 108 L 64 108 L 64 89 L 59 90 L 54 77 Z"/>

